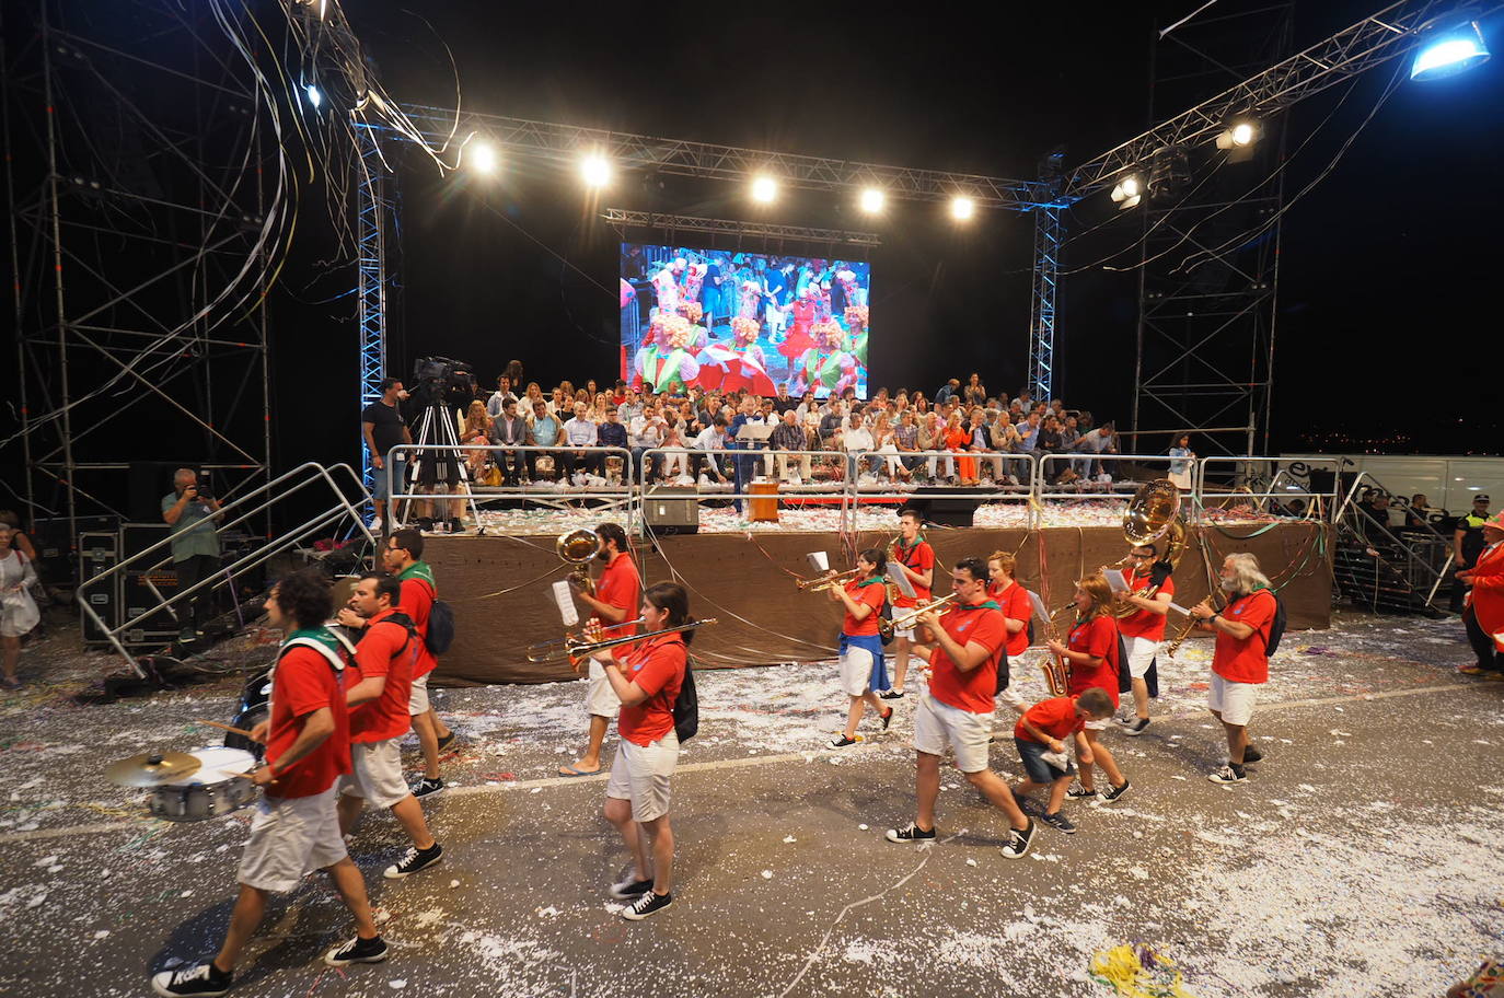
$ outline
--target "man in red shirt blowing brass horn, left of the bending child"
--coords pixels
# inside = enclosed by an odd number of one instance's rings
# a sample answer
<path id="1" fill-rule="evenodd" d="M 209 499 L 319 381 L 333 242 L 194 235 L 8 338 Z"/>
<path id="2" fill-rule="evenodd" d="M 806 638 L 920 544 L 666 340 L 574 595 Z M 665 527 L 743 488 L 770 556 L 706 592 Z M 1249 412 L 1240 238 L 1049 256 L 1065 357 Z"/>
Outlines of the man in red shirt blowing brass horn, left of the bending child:
<path id="1" fill-rule="evenodd" d="M 942 613 L 928 607 L 919 622 L 934 634 L 929 651 L 929 691 L 914 711 L 917 815 L 902 828 L 889 828 L 889 842 L 931 842 L 935 837 L 935 800 L 940 797 L 940 756 L 949 745 L 955 768 L 1008 815 L 1012 828 L 1003 855 L 1023 858 L 1029 852 L 1035 825 L 1024 818 L 1012 791 L 987 768 L 988 741 L 993 735 L 993 696 L 997 670 L 1006 669 L 1003 643 L 1008 628 L 997 604 L 987 598 L 987 565 L 979 558 L 964 558 L 951 571 L 954 606 Z"/>

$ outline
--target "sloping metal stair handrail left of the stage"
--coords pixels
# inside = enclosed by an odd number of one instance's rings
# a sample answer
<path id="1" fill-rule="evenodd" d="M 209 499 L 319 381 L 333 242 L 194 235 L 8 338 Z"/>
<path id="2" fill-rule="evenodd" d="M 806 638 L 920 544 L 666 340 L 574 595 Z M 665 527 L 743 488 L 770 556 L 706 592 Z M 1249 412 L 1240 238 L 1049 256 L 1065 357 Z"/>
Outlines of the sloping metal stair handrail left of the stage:
<path id="1" fill-rule="evenodd" d="M 353 501 L 349 496 L 346 496 L 346 493 L 335 482 L 334 479 L 335 475 L 349 476 L 349 484 L 353 485 L 356 494 Z M 298 476 L 302 476 L 302 481 L 287 485 L 287 482 L 293 481 Z M 361 507 L 364 507 L 364 504 L 370 501 L 370 493 L 367 493 L 365 487 L 361 484 L 359 475 L 349 464 L 332 464 L 325 467 L 323 464 L 317 464 L 314 461 L 307 461 L 304 464 L 299 464 L 298 467 L 283 475 L 278 475 L 277 478 L 262 485 L 257 485 L 256 488 L 247 491 L 239 499 L 235 499 L 221 507 L 220 511 L 215 514 L 215 520 L 218 520 L 218 526 L 214 529 L 215 537 L 239 526 L 241 523 L 250 520 L 254 516 L 260 516 L 272 505 L 287 499 L 289 496 L 295 496 L 310 485 L 317 485 L 320 481 L 326 484 L 335 496 L 335 504 L 332 507 L 319 513 L 313 519 L 305 520 L 302 525 L 293 528 L 292 531 L 287 531 L 277 540 L 268 541 L 268 544 L 265 544 L 263 547 L 232 562 L 230 565 L 221 568 L 215 574 L 196 582 L 186 589 L 179 589 L 171 597 L 162 598 L 156 606 L 150 607 L 149 610 L 137 613 L 134 618 L 129 618 L 116 627 L 108 627 L 104 618 L 101 618 L 99 613 L 93 609 L 93 606 L 90 606 L 89 589 L 99 588 L 107 580 L 125 571 L 141 571 L 143 574 L 149 576 L 153 571 L 165 568 L 173 562 L 170 553 L 167 558 L 150 562 L 146 568 L 141 568 L 140 562 L 147 555 L 153 555 L 156 552 L 161 552 L 162 549 L 170 549 L 173 543 L 171 535 L 162 538 L 161 541 L 156 541 L 155 544 L 152 544 L 150 547 L 144 549 L 137 555 L 132 555 L 129 558 L 122 558 L 111 568 L 107 568 L 98 576 L 93 576 L 92 579 L 81 582 L 78 585 L 78 598 L 75 600 L 77 606 L 83 613 L 86 613 L 93 621 L 95 627 L 99 628 L 99 633 L 105 636 L 105 639 L 117 652 L 120 652 L 120 657 L 131 664 L 135 673 L 138 676 L 144 676 L 146 673 L 135 663 L 135 657 L 131 655 L 131 652 L 120 642 L 120 634 L 129 631 L 132 627 L 141 624 L 152 615 L 159 613 L 162 610 L 168 610 L 173 615 L 173 618 L 177 619 L 177 612 L 173 610 L 174 604 L 182 603 L 183 600 L 197 592 L 212 589 L 214 586 L 223 585 L 226 582 L 233 582 L 236 576 L 244 574 L 251 568 L 256 568 L 257 565 L 269 561 L 275 555 L 287 550 L 289 547 L 296 546 L 302 540 L 313 537 L 314 534 L 319 534 L 322 531 L 326 531 L 329 526 L 344 520 L 346 517 L 355 525 L 356 529 L 359 529 L 359 532 L 365 535 L 365 540 L 370 541 L 371 547 L 376 546 L 376 537 L 370 532 L 370 528 L 365 526 L 365 522 L 359 513 Z M 254 496 L 262 493 L 266 493 L 268 497 L 259 505 L 253 505 L 241 511 L 239 516 L 233 519 L 227 516 L 230 511 L 238 510 L 244 504 L 248 504 Z M 147 579 L 147 586 L 152 588 L 153 595 L 161 597 L 161 591 L 158 591 L 155 583 L 152 583 L 149 579 Z"/>

